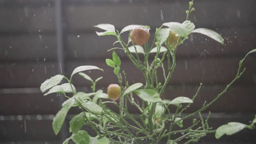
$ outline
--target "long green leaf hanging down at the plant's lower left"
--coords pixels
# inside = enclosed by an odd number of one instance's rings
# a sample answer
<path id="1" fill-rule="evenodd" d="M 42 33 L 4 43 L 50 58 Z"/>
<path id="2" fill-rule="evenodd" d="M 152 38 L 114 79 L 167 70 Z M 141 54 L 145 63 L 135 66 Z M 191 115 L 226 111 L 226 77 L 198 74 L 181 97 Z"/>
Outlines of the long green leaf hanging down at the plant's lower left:
<path id="1" fill-rule="evenodd" d="M 62 105 L 62 109 L 56 114 L 53 120 L 54 133 L 57 135 L 60 132 L 62 124 L 65 120 L 68 110 L 74 105 L 74 99 L 66 100 Z"/>

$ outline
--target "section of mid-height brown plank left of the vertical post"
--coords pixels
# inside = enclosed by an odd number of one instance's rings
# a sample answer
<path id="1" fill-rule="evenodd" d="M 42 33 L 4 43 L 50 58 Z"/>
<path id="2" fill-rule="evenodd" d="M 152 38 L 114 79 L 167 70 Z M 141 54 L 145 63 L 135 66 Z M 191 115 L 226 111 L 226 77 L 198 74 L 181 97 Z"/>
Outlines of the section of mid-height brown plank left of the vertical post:
<path id="1" fill-rule="evenodd" d="M 40 83 L 56 74 L 55 62 L 1 64 L 0 87 L 39 87 Z"/>

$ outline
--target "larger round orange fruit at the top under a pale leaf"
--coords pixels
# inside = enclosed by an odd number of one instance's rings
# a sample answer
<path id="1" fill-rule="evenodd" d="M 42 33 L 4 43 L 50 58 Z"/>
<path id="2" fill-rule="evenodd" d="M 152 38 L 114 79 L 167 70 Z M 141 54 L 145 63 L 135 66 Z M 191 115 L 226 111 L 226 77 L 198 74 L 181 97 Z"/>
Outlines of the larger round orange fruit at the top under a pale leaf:
<path id="1" fill-rule="evenodd" d="M 133 28 L 130 34 L 131 40 L 137 45 L 144 45 L 149 39 L 149 29 L 144 27 Z"/>

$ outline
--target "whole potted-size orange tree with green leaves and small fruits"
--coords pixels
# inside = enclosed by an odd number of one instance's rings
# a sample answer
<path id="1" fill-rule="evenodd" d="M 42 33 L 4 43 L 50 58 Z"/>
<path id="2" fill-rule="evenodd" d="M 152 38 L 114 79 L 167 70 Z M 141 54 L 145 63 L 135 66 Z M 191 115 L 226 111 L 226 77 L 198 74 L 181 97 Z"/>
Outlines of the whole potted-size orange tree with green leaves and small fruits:
<path id="1" fill-rule="evenodd" d="M 69 122 L 69 131 L 72 135 L 63 143 L 68 143 L 69 140 L 78 144 L 142 143 L 143 141 L 158 143 L 162 139 L 167 143 L 178 143 L 184 138 L 187 138 L 185 139 L 187 141 L 185 143 L 190 143 L 199 141 L 201 137 L 208 133 L 216 133 L 216 138 L 218 139 L 224 134 L 231 135 L 244 128 L 254 128 L 256 119 L 250 125 L 231 122 L 222 125 L 217 130 L 213 130 L 207 122 L 211 113 L 209 112 L 208 117 L 203 119 L 201 112 L 216 102 L 241 77 L 245 72 L 245 68 L 242 68 L 243 61 L 249 53 L 255 52 L 256 49 L 248 52 L 245 58 L 239 62 L 237 74 L 229 85 L 210 101 L 210 103 L 205 102 L 200 109 L 195 110 L 193 113 L 181 115 L 196 100 L 202 83 L 200 83 L 192 99 L 188 97 L 171 97 L 171 100 L 161 99 L 176 68 L 176 51 L 178 46 L 188 39 L 189 34 L 201 33 L 216 40 L 220 44 L 224 44 L 224 39 L 218 33 L 206 28 L 195 29 L 194 23 L 189 21 L 189 15 L 194 10 L 193 1 L 191 1 L 189 3 L 189 9 L 186 11 L 187 20 L 183 23 L 163 23 L 159 28 L 156 28 L 151 46 L 147 43 L 150 35 L 150 28 L 148 26 L 130 25 L 123 28 L 120 32 L 110 24 L 95 26 L 103 30 L 103 32 L 96 32 L 97 35 L 114 35 L 117 38 L 115 43 L 119 43 L 121 46 L 110 49 L 109 51 L 113 51 L 112 59 L 106 59 L 107 65 L 113 68 L 119 85 L 109 85 L 107 94 L 101 89 L 96 91 L 96 83 L 102 77 L 92 80 L 89 75 L 82 73 L 82 71 L 86 70 L 103 71 L 103 69 L 92 65 L 75 68 L 70 78 L 63 75 L 56 75 L 42 83 L 40 86 L 42 92 L 49 89 L 44 95 L 60 93 L 67 98 L 62 104 L 62 109 L 54 118 L 53 129 L 55 134 L 59 133 L 67 112 L 71 107 L 79 107 L 82 110 L 81 113 L 74 116 Z M 125 32 L 129 32 L 127 43 L 121 39 L 121 34 Z M 123 50 L 127 58 L 130 59 L 136 68 L 141 70 L 145 83 L 133 83 L 133 85 L 130 85 L 126 79 L 125 71 L 120 73 L 121 59 L 114 51 L 115 49 Z M 160 55 L 160 53 L 162 54 Z M 154 55 L 151 63 L 148 61 L 149 55 Z M 167 59 L 166 67 L 163 64 L 165 59 Z M 164 83 L 158 81 L 158 68 L 162 68 L 162 76 L 165 79 Z M 92 83 L 92 93 L 76 91 L 72 85 L 72 77 L 77 73 Z M 67 82 L 59 85 L 62 80 L 66 80 Z M 67 93 L 72 93 L 72 97 L 68 97 Z M 134 94 L 141 99 L 141 103 L 135 101 L 133 98 Z M 119 103 L 115 101 L 117 99 L 119 99 Z M 114 105 L 119 109 L 119 112 L 113 111 L 107 104 Z M 168 109 L 169 105 L 176 106 L 175 113 L 170 112 Z M 134 115 L 129 113 L 129 106 L 136 107 L 139 110 L 139 117 L 135 118 Z M 194 115 L 199 115 L 200 119 L 188 119 Z M 189 127 L 183 128 L 183 121 L 185 120 L 193 121 L 193 123 Z M 180 129 L 173 130 L 173 127 L 176 125 Z M 87 131 L 83 130 L 83 127 L 90 127 L 95 131 L 96 135 L 89 135 Z M 176 135 L 174 139 L 174 134 L 180 135 L 178 137 Z"/>

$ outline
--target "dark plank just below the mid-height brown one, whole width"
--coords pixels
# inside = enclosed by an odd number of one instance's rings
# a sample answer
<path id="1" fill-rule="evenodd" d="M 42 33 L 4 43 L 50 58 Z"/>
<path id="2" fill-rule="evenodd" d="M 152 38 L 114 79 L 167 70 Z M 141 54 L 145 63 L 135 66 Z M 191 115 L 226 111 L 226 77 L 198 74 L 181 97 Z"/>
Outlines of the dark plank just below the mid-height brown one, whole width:
<path id="1" fill-rule="evenodd" d="M 193 112 L 200 109 L 204 101 L 210 103 L 218 93 L 222 92 L 225 86 L 223 85 L 206 85 L 203 86 L 199 96 L 194 101 L 194 104 L 186 112 Z M 77 88 L 78 91 L 89 93 L 90 90 L 85 88 Z M 106 92 L 106 87 L 102 88 Z M 232 86 L 226 94 L 224 94 L 217 103 L 214 103 L 207 111 L 211 112 L 229 112 L 229 113 L 255 113 L 256 107 L 254 101 L 256 98 L 255 86 Z M 11 89 L 10 89 L 11 91 Z M 14 91 L 14 90 L 13 90 Z M 39 89 L 38 89 L 39 91 Z M 197 91 L 197 86 L 168 86 L 162 99 L 174 99 L 176 97 L 189 97 L 192 98 Z M 60 107 L 56 107 L 59 104 L 60 97 L 57 94 L 51 94 L 43 96 L 42 93 L 1 93 L 0 94 L 0 113 L 1 115 L 50 115 L 56 114 Z M 139 98 L 136 97 L 136 100 Z M 109 105 L 117 111 L 117 107 Z M 22 109 L 21 109 L 22 107 Z M 170 107 L 170 110 L 174 112 L 174 107 Z M 131 113 L 139 113 L 139 111 L 129 106 Z M 71 113 L 79 113 L 79 109 L 72 109 Z"/>

